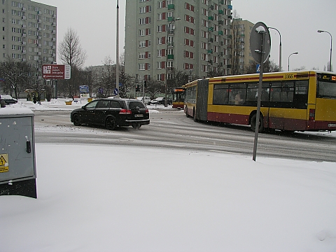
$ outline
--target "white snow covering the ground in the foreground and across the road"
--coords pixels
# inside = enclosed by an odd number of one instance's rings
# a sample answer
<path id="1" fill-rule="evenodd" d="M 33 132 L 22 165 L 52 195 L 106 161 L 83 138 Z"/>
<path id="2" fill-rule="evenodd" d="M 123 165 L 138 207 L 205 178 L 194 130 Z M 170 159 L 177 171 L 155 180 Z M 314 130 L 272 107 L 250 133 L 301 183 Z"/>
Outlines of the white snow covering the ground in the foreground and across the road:
<path id="1" fill-rule="evenodd" d="M 36 144 L 36 170 L 37 200 L 0 197 L 0 251 L 336 251 L 332 162 Z"/>

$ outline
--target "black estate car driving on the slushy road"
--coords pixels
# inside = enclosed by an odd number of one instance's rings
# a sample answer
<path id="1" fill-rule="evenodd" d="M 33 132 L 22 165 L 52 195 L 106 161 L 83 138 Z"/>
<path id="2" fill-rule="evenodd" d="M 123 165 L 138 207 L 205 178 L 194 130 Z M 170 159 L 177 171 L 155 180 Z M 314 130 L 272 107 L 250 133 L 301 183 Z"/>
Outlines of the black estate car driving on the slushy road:
<path id="1" fill-rule="evenodd" d="M 150 122 L 144 103 L 137 99 L 122 98 L 95 99 L 80 109 L 73 110 L 70 119 L 76 126 L 102 125 L 107 130 L 123 126 L 139 129 L 141 125 L 148 125 Z"/>

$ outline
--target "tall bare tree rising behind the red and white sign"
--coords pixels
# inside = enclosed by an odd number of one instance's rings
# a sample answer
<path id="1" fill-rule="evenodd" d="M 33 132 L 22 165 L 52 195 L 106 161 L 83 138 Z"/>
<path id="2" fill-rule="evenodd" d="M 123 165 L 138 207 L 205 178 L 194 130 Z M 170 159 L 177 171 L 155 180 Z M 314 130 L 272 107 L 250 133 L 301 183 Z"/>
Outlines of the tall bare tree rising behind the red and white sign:
<path id="1" fill-rule="evenodd" d="M 71 79 L 64 80 L 68 95 L 73 96 L 79 92 L 80 78 L 79 71 L 87 58 L 86 51 L 80 46 L 79 37 L 73 29 L 69 28 L 59 43 L 59 59 L 64 64 L 71 66 Z"/>

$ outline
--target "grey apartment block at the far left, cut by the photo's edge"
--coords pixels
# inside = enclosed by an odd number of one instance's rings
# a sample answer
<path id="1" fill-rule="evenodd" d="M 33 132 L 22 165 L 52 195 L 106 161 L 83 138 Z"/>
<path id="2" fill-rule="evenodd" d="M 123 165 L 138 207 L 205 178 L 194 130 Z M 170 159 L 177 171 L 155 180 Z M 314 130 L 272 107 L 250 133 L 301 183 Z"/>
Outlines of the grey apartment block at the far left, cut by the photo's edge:
<path id="1" fill-rule="evenodd" d="M 27 62 L 41 78 L 42 64 L 56 62 L 57 8 L 30 0 L 1 0 L 0 5 L 0 61 Z"/>

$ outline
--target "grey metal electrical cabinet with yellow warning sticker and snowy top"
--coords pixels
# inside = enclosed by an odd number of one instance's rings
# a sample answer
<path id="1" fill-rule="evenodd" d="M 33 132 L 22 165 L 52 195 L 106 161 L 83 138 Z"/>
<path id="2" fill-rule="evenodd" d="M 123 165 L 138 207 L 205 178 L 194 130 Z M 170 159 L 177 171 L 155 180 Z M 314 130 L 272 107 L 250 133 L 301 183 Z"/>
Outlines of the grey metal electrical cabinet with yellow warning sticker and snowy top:
<path id="1" fill-rule="evenodd" d="M 37 198 L 34 113 L 0 109 L 0 195 Z"/>

